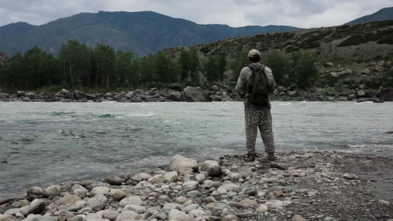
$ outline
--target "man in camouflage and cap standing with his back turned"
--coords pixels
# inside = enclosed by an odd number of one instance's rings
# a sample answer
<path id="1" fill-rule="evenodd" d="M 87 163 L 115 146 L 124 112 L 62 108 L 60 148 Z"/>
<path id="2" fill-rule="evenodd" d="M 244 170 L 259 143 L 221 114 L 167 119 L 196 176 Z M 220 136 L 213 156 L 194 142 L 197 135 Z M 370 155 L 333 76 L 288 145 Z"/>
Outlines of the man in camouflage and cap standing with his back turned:
<path id="1" fill-rule="evenodd" d="M 248 154 L 246 161 L 253 162 L 256 158 L 255 140 L 259 128 L 268 161 L 276 161 L 274 155 L 274 137 L 272 114 L 270 113 L 269 94 L 274 92 L 272 70 L 260 63 L 261 54 L 253 49 L 249 52 L 249 65 L 240 72 L 236 91 L 244 99 L 246 145 Z"/>

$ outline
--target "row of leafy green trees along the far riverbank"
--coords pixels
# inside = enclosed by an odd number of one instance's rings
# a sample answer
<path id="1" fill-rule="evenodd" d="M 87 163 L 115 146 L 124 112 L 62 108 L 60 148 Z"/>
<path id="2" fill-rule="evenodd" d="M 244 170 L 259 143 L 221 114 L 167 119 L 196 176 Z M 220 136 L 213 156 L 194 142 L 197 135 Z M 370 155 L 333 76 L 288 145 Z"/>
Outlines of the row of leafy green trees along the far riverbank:
<path id="1" fill-rule="evenodd" d="M 91 48 L 69 40 L 57 55 L 38 47 L 25 54 L 12 55 L 0 65 L 0 80 L 1 87 L 11 91 L 162 88 L 170 83 L 207 87 L 224 80 L 236 81 L 248 62 L 247 55 L 243 54 L 231 60 L 225 54 L 207 55 L 201 59 L 196 49 L 183 49 L 178 57 L 159 52 L 136 58 L 132 52 L 115 51 L 107 45 Z M 297 81 L 306 88 L 315 81 L 315 61 L 315 56 L 307 52 L 290 56 L 272 53 L 266 64 L 275 71 L 277 82 Z"/>

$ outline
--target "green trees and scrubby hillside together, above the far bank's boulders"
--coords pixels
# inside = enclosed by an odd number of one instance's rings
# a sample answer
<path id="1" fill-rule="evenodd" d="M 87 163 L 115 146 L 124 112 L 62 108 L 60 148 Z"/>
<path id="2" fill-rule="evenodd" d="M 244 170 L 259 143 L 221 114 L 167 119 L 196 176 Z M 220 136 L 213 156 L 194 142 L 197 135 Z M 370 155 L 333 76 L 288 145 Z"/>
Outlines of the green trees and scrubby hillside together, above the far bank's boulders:
<path id="1" fill-rule="evenodd" d="M 110 46 L 76 40 L 50 54 L 33 47 L 9 58 L 0 54 L 0 89 L 85 92 L 212 85 L 233 88 L 255 48 L 284 88 L 325 88 L 353 93 L 393 86 L 393 21 L 311 28 L 235 37 L 137 57 Z M 296 85 L 296 86 L 291 86 Z"/>

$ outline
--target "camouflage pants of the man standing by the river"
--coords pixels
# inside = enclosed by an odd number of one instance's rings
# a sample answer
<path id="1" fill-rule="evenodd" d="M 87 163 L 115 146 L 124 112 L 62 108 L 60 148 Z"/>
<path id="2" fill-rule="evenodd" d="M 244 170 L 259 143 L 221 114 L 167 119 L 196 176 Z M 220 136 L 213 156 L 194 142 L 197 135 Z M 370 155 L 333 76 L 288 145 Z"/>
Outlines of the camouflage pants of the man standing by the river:
<path id="1" fill-rule="evenodd" d="M 265 152 L 267 154 L 274 153 L 273 121 L 270 109 L 248 105 L 245 108 L 245 122 L 247 151 L 250 154 L 256 153 L 255 140 L 259 128 L 263 144 L 265 145 Z"/>

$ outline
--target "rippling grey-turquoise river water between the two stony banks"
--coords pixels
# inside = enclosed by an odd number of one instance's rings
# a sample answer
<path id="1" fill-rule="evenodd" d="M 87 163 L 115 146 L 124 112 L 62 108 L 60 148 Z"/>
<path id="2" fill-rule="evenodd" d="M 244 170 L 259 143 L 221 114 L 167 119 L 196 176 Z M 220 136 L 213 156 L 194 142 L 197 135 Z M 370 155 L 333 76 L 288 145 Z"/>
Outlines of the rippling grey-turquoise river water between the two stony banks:
<path id="1" fill-rule="evenodd" d="M 393 103 L 272 102 L 278 150 L 393 156 Z M 243 104 L 0 102 L 0 198 L 245 152 Z M 263 151 L 260 138 L 257 149 Z"/>

